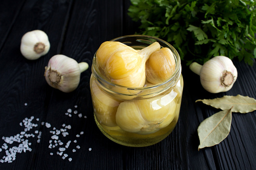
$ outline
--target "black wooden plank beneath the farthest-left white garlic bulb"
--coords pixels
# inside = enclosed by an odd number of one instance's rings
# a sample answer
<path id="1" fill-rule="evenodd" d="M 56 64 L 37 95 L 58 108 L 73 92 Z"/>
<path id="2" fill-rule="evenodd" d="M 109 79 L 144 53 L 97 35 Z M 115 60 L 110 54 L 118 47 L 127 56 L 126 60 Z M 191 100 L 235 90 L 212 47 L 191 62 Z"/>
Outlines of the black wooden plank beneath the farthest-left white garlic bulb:
<path id="1" fill-rule="evenodd" d="M 44 167 L 45 164 L 47 167 L 54 165 L 49 161 L 51 159 L 49 151 L 45 151 L 49 145 L 47 138 L 50 137 L 50 133 L 48 128 L 41 125 L 41 122 L 46 120 L 49 100 L 52 97 L 51 88 L 47 85 L 43 75 L 49 58 L 57 53 L 70 3 L 70 1 L 26 1 L 23 6 L 19 7 L 21 8 L 19 13 L 15 13 L 17 18 L 11 26 L 11 31 L 0 53 L 0 93 L 2 94 L 0 96 L 2 101 L 0 103 L 2 109 L 0 136 L 10 137 L 20 134 L 24 131 L 24 126 L 20 126 L 20 122 L 34 116 L 34 122 L 38 125 L 36 129 L 42 131 L 44 134 L 42 140 L 45 142 L 37 142 L 38 134 L 35 134 L 34 138 L 29 137 L 32 151 L 17 153 L 13 163 L 0 163 L 0 169 L 38 169 Z M 6 25 L 4 30 L 8 29 L 10 26 Z M 26 32 L 35 29 L 43 30 L 48 34 L 51 49 L 46 56 L 36 61 L 28 61 L 20 53 L 20 41 Z M 39 121 L 36 118 L 39 118 Z M 3 143 L 4 140 L 1 140 L 1 146 Z M 17 142 L 9 144 L 9 148 L 19 144 Z M 1 156 L 4 154 L 4 151 L 1 152 Z M 39 167 L 36 166 L 38 162 L 45 164 L 40 163 L 42 166 Z"/>

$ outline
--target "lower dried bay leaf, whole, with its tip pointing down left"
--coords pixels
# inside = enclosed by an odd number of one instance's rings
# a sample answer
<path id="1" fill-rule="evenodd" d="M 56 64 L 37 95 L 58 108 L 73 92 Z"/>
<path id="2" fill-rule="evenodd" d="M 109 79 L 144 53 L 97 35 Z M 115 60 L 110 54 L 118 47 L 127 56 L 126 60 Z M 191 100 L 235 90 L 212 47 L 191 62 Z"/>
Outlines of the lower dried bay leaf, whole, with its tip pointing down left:
<path id="1" fill-rule="evenodd" d="M 219 144 L 230 132 L 232 108 L 223 110 L 206 118 L 198 126 L 197 132 L 200 140 L 198 150 Z"/>

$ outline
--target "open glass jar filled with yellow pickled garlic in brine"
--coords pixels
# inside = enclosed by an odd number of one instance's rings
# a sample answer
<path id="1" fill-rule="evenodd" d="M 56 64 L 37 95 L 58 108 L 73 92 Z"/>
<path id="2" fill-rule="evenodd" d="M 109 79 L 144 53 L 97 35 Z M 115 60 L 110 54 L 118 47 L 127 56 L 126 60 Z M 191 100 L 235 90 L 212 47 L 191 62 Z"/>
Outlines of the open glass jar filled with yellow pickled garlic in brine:
<path id="1" fill-rule="evenodd" d="M 176 49 L 150 36 L 131 35 L 113 39 L 136 50 L 158 42 L 175 57 L 174 74 L 159 84 L 125 87 L 112 83 L 100 71 L 94 55 L 90 88 L 95 121 L 101 132 L 126 146 L 148 146 L 167 137 L 175 128 L 181 107 L 183 77 Z"/>

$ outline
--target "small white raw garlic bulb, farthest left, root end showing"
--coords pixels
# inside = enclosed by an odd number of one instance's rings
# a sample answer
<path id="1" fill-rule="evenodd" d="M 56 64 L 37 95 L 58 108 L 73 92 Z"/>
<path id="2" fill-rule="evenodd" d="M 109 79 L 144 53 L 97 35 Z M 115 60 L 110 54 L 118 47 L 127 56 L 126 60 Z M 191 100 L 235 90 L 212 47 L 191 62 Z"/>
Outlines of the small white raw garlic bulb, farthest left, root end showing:
<path id="1" fill-rule="evenodd" d="M 21 39 L 21 54 L 28 60 L 36 60 L 48 53 L 50 42 L 45 32 L 34 30 L 27 32 Z"/>

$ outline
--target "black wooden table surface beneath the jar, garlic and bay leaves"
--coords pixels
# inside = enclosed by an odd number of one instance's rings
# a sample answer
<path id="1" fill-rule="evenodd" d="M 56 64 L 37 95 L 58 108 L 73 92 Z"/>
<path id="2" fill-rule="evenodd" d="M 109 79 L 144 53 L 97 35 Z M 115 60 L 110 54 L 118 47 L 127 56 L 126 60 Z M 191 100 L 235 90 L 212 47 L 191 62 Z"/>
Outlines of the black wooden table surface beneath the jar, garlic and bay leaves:
<path id="1" fill-rule="evenodd" d="M 114 143 L 98 129 L 90 94 L 91 65 L 101 43 L 134 34 L 128 0 L 2 0 L 0 3 L 0 169 L 255 169 L 256 111 L 233 113 L 229 135 L 200 149 L 197 127 L 220 111 L 195 103 L 223 95 L 256 98 L 256 64 L 233 61 L 238 78 L 225 93 L 206 92 L 199 76 L 182 64 L 184 92 L 174 131 L 147 147 Z M 44 31 L 47 55 L 29 61 L 22 36 Z M 90 68 L 78 88 L 63 93 L 45 81 L 49 59 L 63 54 Z"/>

